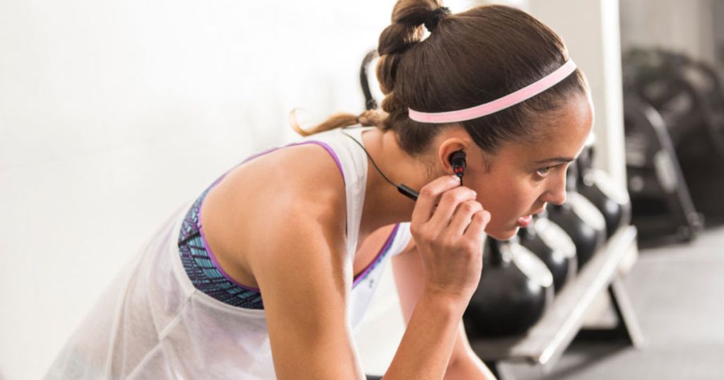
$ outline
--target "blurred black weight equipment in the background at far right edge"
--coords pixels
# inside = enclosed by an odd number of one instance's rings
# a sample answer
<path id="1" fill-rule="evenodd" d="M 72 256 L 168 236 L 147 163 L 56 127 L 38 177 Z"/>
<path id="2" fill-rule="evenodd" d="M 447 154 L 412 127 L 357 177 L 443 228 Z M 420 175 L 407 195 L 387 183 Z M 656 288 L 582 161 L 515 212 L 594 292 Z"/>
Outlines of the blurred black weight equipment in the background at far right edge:
<path id="1" fill-rule="evenodd" d="M 633 49 L 624 56 L 624 88 L 659 112 L 707 222 L 724 221 L 724 88 L 717 71 L 689 56 Z"/>

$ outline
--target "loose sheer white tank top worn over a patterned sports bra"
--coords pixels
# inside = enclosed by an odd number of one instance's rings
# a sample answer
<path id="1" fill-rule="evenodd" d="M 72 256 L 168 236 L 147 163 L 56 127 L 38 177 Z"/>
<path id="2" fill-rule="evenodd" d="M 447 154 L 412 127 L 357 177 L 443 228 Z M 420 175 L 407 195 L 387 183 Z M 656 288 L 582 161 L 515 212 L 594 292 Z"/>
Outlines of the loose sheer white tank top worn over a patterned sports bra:
<path id="1" fill-rule="evenodd" d="M 361 141 L 362 128 L 347 129 Z M 336 156 L 347 197 L 347 255 L 353 262 L 367 182 L 367 157 L 340 130 L 310 136 Z M 238 308 L 197 290 L 180 261 L 178 236 L 190 200 L 162 224 L 72 334 L 46 379 L 276 379 L 264 310 Z M 397 226 L 387 254 L 350 292 L 353 331 L 390 257 L 410 241 Z"/>

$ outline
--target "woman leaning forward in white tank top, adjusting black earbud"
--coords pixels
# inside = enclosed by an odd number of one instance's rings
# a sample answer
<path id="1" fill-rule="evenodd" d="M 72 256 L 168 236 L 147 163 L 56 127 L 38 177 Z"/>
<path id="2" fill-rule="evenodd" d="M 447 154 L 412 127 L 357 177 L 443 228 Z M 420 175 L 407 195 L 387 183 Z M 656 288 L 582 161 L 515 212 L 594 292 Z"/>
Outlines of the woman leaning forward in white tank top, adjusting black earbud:
<path id="1" fill-rule="evenodd" d="M 586 82 L 509 7 L 400 0 L 379 54 L 381 111 L 336 115 L 180 208 L 49 378 L 363 379 L 353 329 L 390 260 L 407 328 L 384 379 L 492 378 L 460 323 L 484 237 L 565 201 Z"/>

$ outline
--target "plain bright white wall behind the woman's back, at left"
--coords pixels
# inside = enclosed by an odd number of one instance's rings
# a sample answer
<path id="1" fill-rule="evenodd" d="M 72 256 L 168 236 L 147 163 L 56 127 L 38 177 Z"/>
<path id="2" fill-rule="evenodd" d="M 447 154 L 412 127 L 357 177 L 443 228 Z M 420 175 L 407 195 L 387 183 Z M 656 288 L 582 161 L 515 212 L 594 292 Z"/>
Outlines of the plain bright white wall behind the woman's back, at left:
<path id="1" fill-rule="evenodd" d="M 0 379 L 38 379 L 153 229 L 292 138 L 362 111 L 378 1 L 0 1 Z"/>

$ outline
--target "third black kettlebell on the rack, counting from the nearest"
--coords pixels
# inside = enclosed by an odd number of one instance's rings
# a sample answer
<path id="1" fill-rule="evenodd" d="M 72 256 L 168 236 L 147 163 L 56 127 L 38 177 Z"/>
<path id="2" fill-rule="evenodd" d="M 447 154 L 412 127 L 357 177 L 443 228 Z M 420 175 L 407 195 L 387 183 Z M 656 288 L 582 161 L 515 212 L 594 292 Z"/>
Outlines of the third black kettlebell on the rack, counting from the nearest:
<path id="1" fill-rule="evenodd" d="M 602 248 L 606 240 L 606 221 L 598 208 L 576 190 L 578 172 L 576 165 L 568 168 L 566 190 L 568 195 L 563 205 L 549 204 L 548 218 L 559 225 L 576 245 L 578 270 Z"/>

